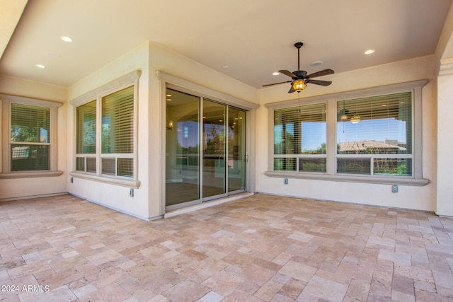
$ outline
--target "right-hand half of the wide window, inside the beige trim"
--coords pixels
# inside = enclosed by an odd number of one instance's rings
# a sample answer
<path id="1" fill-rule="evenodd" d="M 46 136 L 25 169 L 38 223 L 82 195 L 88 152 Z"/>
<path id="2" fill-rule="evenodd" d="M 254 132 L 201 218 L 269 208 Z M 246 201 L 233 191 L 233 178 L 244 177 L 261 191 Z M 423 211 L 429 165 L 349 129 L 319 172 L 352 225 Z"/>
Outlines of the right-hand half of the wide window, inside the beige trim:
<path id="1" fill-rule="evenodd" d="M 337 173 L 412 176 L 412 93 L 337 102 Z"/>

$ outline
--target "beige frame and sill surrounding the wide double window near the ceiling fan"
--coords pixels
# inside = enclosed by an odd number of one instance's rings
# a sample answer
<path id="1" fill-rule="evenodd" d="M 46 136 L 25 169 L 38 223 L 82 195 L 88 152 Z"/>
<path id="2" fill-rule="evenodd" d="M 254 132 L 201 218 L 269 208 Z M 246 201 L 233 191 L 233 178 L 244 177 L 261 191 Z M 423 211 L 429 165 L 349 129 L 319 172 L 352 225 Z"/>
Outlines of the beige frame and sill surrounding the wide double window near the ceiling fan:
<path id="1" fill-rule="evenodd" d="M 427 185 L 429 180 L 423 178 L 422 173 L 422 88 L 428 80 L 411 81 L 406 83 L 396 83 L 374 88 L 364 88 L 357 91 L 346 91 L 329 95 L 319 95 L 299 100 L 288 100 L 284 102 L 268 103 L 265 106 L 269 112 L 269 163 L 268 171 L 265 175 L 273 178 L 303 178 L 311 180 L 331 180 L 344 182 L 365 182 L 377 184 L 394 185 Z M 355 98 L 367 98 L 376 95 L 386 95 L 401 92 L 412 93 L 412 155 L 413 175 L 360 175 L 345 174 L 337 172 L 337 158 L 348 157 L 337 154 L 337 103 L 343 100 Z M 274 154 L 274 110 L 297 107 L 298 104 L 309 105 L 315 103 L 327 103 L 327 171 L 322 172 L 290 172 L 273 170 Z M 403 156 L 404 157 L 404 156 Z"/>

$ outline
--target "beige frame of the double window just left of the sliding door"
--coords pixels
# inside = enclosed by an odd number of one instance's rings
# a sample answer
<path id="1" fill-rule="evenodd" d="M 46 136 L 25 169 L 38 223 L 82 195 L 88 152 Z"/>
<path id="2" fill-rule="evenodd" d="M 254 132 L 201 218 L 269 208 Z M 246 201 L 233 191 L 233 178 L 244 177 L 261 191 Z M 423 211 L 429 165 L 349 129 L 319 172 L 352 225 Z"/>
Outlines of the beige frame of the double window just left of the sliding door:
<path id="1" fill-rule="evenodd" d="M 73 153 L 73 165 L 72 170 L 69 175 L 74 176 L 76 178 L 83 178 L 87 180 L 94 180 L 98 182 L 105 182 L 110 183 L 112 185 L 122 185 L 125 187 L 134 187 L 138 188 L 140 186 L 140 181 L 138 180 L 139 173 L 138 173 L 138 136 L 137 136 L 137 129 L 138 129 L 138 81 L 139 81 L 140 71 L 133 71 L 126 76 L 123 76 L 120 79 L 112 81 L 105 86 L 101 86 L 101 88 L 92 91 L 91 93 L 87 93 L 85 95 L 81 95 L 79 98 L 75 98 L 69 102 L 70 105 L 73 106 L 73 116 L 74 116 L 74 146 L 72 148 Z M 132 153 L 102 153 L 101 150 L 101 127 L 102 127 L 102 100 L 103 97 L 106 95 L 110 95 L 121 91 L 122 89 L 128 88 L 133 86 L 133 152 Z M 77 127 L 77 108 L 81 105 L 85 105 L 86 103 L 90 103 L 93 100 L 96 100 L 96 153 L 77 153 L 76 152 L 76 127 Z M 96 173 L 90 172 L 86 170 L 76 170 L 76 158 L 96 158 Z M 116 164 L 117 159 L 120 158 L 132 158 L 132 168 L 133 173 L 132 177 L 121 176 L 121 175 L 112 175 L 111 173 L 103 173 L 103 159 L 115 159 L 115 173 L 116 173 Z M 85 159 L 86 163 L 86 159 Z"/>

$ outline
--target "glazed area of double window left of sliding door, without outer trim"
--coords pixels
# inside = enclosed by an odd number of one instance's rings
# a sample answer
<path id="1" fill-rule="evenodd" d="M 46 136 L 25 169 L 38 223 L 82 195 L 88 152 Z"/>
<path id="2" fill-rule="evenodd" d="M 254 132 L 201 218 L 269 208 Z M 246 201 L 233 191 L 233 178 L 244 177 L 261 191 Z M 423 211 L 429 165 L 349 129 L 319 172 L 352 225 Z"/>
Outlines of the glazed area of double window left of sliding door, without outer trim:
<path id="1" fill-rule="evenodd" d="M 96 115 L 98 104 L 101 118 Z M 98 124 L 100 135 L 96 132 Z M 96 144 L 98 139 L 101 152 Z M 132 178 L 133 158 L 134 86 L 76 108 L 76 170 Z"/>

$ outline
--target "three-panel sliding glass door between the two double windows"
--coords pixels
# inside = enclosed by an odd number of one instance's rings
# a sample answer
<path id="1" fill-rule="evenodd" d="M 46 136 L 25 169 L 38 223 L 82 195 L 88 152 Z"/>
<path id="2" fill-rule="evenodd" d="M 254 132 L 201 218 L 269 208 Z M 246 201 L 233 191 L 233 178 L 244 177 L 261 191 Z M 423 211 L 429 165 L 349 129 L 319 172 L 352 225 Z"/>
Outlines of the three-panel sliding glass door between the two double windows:
<path id="1" fill-rule="evenodd" d="M 166 209 L 246 190 L 246 112 L 167 89 Z"/>

